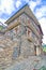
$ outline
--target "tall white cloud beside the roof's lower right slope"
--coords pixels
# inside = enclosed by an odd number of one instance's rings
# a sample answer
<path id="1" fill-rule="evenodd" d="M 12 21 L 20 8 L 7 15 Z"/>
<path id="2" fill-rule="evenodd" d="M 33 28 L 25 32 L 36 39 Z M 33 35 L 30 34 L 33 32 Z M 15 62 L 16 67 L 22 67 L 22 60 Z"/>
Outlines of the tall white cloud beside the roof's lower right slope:
<path id="1" fill-rule="evenodd" d="M 40 22 L 40 24 L 42 26 L 42 30 L 44 32 L 43 42 L 46 44 L 46 18 L 43 17 L 39 22 Z"/>

